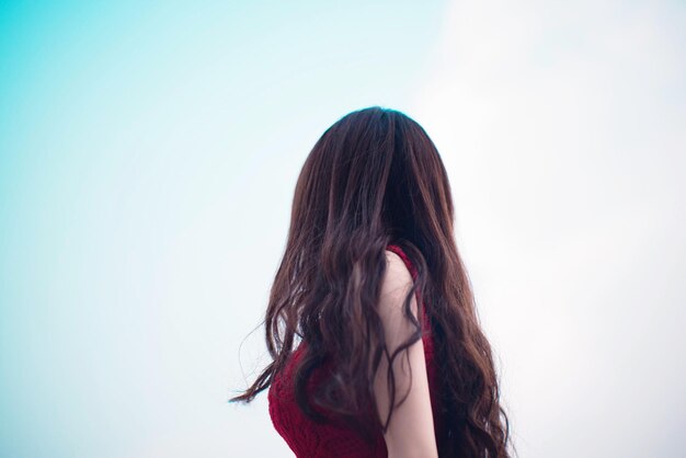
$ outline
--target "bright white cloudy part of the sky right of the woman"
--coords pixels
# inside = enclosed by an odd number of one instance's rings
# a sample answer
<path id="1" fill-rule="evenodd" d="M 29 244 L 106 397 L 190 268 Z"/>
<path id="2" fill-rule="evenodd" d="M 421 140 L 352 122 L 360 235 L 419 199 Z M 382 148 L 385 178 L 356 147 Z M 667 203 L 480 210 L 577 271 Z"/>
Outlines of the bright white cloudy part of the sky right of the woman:
<path id="1" fill-rule="evenodd" d="M 453 2 L 415 96 L 523 457 L 686 447 L 685 20 Z"/>

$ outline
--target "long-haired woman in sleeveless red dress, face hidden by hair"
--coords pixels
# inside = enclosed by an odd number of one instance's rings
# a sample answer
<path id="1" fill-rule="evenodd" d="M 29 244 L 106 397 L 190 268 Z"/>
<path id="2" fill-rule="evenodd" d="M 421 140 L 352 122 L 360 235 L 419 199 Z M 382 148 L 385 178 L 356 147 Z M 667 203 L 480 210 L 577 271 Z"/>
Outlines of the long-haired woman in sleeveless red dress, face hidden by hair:
<path id="1" fill-rule="evenodd" d="M 424 129 L 347 114 L 298 178 L 265 318 L 270 388 L 298 457 L 510 457 L 492 352 L 454 238 L 448 178 Z"/>

